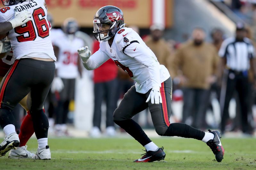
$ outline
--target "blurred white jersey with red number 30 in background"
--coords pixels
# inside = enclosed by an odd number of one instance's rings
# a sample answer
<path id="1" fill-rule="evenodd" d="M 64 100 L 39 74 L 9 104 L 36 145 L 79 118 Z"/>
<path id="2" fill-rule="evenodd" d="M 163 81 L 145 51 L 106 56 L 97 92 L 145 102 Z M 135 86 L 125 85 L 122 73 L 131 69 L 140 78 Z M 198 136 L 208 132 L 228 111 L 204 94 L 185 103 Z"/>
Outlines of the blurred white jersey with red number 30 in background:
<path id="1" fill-rule="evenodd" d="M 77 78 L 79 75 L 77 49 L 84 46 L 84 41 L 75 36 L 69 39 L 66 34 L 63 34 L 54 42 L 54 45 L 60 50 L 56 62 L 57 76 L 60 78 Z"/>

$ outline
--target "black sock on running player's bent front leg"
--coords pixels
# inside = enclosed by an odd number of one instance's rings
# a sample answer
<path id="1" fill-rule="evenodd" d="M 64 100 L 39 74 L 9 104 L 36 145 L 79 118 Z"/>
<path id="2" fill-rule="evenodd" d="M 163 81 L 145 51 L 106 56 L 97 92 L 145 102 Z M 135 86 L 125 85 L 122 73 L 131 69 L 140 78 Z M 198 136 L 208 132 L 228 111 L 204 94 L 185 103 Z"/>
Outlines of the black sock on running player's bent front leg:
<path id="1" fill-rule="evenodd" d="M 123 128 L 129 133 L 134 139 L 136 139 L 142 146 L 152 142 L 146 133 L 141 129 L 140 125 L 134 120 L 115 121 L 117 125 Z"/>

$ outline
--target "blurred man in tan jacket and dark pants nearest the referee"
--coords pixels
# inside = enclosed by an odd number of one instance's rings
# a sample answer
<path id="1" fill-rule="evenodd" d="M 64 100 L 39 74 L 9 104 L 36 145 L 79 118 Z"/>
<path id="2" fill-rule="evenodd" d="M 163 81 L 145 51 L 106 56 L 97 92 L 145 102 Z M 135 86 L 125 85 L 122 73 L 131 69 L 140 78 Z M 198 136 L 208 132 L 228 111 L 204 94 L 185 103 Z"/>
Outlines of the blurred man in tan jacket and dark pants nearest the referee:
<path id="1" fill-rule="evenodd" d="M 183 90 L 182 122 L 188 122 L 193 116 L 192 126 L 203 128 L 202 123 L 209 99 L 210 85 L 216 81 L 218 54 L 216 48 L 204 42 L 205 32 L 195 28 L 192 41 L 187 41 L 177 50 L 171 62 L 171 76 L 174 84 L 180 84 Z M 195 115 L 191 114 L 195 109 Z"/>

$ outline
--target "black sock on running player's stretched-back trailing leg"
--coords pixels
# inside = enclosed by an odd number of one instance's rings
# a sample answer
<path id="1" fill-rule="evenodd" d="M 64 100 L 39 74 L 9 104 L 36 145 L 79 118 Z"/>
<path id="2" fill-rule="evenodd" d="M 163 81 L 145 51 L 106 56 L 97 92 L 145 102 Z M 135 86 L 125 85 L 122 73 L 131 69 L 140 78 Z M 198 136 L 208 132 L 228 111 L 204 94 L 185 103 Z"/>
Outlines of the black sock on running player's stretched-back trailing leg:
<path id="1" fill-rule="evenodd" d="M 202 140 L 204 138 L 204 132 L 185 123 L 171 123 L 164 136 L 178 136 Z"/>

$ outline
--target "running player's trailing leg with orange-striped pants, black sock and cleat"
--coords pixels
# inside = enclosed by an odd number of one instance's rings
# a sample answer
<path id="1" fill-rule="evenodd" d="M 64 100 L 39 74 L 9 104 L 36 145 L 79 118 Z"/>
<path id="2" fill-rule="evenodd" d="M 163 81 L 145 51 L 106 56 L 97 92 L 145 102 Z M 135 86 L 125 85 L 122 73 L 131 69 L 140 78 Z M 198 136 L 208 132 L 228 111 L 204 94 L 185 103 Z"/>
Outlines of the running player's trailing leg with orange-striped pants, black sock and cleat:
<path id="1" fill-rule="evenodd" d="M 216 130 L 203 132 L 196 128 L 193 128 L 184 123 L 171 123 L 170 111 L 171 111 L 171 92 L 172 92 L 172 79 L 169 78 L 162 83 L 160 88 L 162 103 L 159 105 L 148 104 L 152 121 L 156 128 L 156 132 L 161 136 L 178 136 L 193 138 L 205 142 L 215 155 L 218 162 L 221 162 L 224 155 L 224 149 L 220 142 L 220 133 Z M 149 92 L 148 92 L 149 93 Z M 147 96 L 149 95 L 147 93 Z"/>

